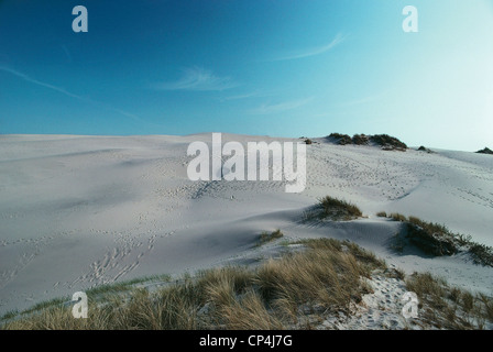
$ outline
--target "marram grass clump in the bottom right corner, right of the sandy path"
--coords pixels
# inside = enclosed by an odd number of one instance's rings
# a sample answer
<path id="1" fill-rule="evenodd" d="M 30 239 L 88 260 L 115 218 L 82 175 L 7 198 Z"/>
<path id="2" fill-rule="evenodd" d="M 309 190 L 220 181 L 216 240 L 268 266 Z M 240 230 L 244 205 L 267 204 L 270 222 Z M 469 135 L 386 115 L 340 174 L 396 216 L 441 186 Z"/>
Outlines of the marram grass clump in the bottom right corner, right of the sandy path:
<path id="1" fill-rule="evenodd" d="M 493 322 L 493 298 L 451 287 L 430 273 L 414 273 L 406 288 L 419 299 L 419 318 L 438 329 L 485 329 Z"/>

